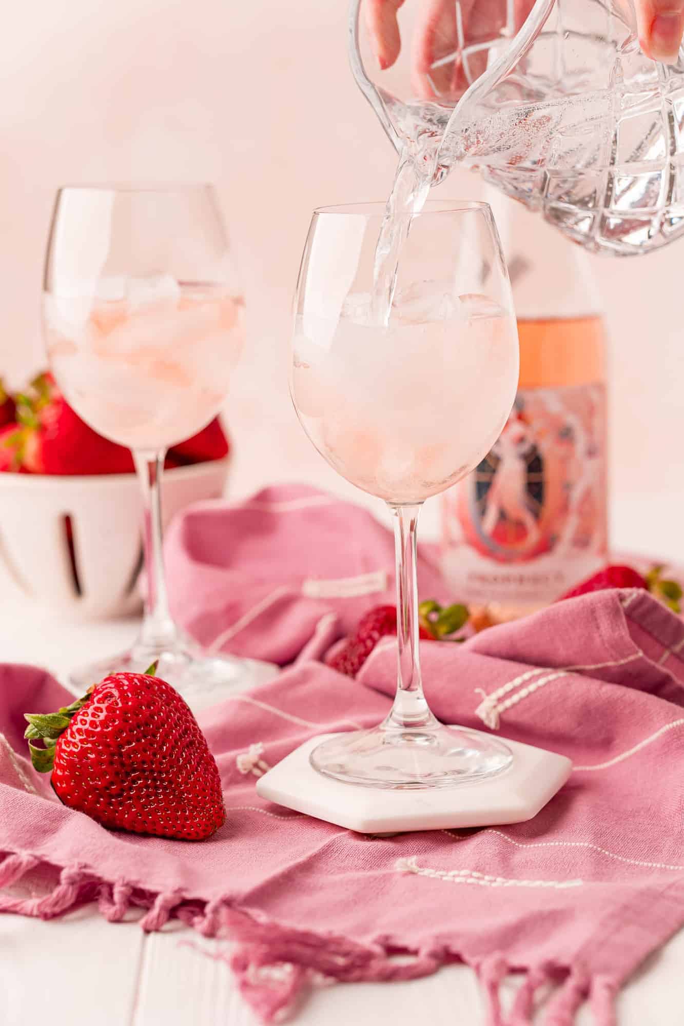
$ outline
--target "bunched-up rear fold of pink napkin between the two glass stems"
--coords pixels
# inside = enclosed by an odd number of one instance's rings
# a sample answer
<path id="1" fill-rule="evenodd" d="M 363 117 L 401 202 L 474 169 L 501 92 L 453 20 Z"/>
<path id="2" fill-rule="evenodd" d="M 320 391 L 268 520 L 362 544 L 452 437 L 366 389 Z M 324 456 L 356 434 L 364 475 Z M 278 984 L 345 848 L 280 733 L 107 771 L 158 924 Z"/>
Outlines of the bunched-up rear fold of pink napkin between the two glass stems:
<path id="1" fill-rule="evenodd" d="M 390 532 L 362 507 L 302 485 L 234 506 L 197 503 L 166 532 L 165 559 L 172 611 L 198 641 L 280 666 L 395 600 Z M 429 549 L 418 586 L 438 601 L 449 593 Z"/>

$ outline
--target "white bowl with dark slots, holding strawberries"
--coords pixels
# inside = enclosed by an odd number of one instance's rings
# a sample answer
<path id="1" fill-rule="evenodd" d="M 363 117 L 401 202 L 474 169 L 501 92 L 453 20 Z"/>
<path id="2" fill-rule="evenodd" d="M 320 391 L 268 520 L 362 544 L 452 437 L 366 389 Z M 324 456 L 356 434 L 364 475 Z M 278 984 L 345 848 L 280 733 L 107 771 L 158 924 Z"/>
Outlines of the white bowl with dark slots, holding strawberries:
<path id="1" fill-rule="evenodd" d="M 162 510 L 223 495 L 229 458 L 164 472 Z M 68 519 L 73 536 L 70 551 Z M 0 563 L 27 595 L 68 619 L 141 606 L 141 492 L 135 474 L 0 474 Z"/>

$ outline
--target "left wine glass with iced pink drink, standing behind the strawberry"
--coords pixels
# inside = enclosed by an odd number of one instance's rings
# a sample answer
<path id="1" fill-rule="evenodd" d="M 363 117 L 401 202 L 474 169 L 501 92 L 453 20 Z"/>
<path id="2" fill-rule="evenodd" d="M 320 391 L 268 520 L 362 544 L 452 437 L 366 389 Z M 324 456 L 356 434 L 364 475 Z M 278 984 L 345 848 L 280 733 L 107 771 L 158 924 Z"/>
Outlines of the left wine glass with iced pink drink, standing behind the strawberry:
<path id="1" fill-rule="evenodd" d="M 143 672 L 158 660 L 160 676 L 188 700 L 203 696 L 205 704 L 227 685 L 270 675 L 268 664 L 204 655 L 179 630 L 162 559 L 165 452 L 221 408 L 242 347 L 243 305 L 211 186 L 59 191 L 43 291 L 47 355 L 76 412 L 132 451 L 144 499 L 148 585 L 131 648 L 76 670 L 74 686 L 85 688 L 115 671 Z M 103 544 L 107 529 L 103 524 Z"/>

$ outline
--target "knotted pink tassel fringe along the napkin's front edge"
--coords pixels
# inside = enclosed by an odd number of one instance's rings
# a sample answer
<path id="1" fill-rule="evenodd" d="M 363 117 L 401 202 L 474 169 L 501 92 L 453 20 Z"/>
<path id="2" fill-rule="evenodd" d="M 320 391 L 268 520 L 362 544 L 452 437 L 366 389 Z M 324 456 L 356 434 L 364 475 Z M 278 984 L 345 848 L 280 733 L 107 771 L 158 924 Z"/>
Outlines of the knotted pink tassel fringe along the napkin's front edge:
<path id="1" fill-rule="evenodd" d="M 21 897 L 7 890 L 40 868 L 55 867 L 29 853 L 5 855 L 0 862 L 0 912 L 51 919 L 80 904 L 97 901 L 101 914 L 110 922 L 120 921 L 131 908 L 140 907 L 145 910 L 140 924 L 146 931 L 161 930 L 176 916 L 204 937 L 225 934 L 237 942 L 237 947 L 231 953 L 219 950 L 215 957 L 230 964 L 243 996 L 265 1022 L 287 1018 L 313 986 L 334 981 L 415 980 L 460 959 L 472 965 L 484 988 L 489 1003 L 488 1026 L 531 1026 L 535 1002 L 540 1003 L 540 992 L 549 985 L 556 989 L 546 999 L 544 1026 L 572 1026 L 585 1000 L 596 1026 L 616 1026 L 616 982 L 605 976 L 592 977 L 584 965 L 525 968 L 511 965 L 502 953 L 470 962 L 444 942 L 413 954 L 388 939 L 364 945 L 341 936 L 257 919 L 254 913 L 236 908 L 228 896 L 201 902 L 185 898 L 178 891 L 155 894 L 125 880 L 103 880 L 79 865 L 61 869 L 52 890 L 39 897 Z M 524 979 L 506 1013 L 501 985 L 511 972 L 523 973 Z"/>

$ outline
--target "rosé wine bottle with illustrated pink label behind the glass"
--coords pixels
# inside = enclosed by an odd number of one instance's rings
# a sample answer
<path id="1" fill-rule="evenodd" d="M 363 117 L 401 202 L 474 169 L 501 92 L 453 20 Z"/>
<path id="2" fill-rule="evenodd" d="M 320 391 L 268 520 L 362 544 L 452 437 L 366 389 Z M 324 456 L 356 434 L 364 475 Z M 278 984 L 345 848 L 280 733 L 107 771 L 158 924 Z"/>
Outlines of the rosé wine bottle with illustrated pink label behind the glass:
<path id="1" fill-rule="evenodd" d="M 512 284 L 520 383 L 490 453 L 443 497 L 443 557 L 454 593 L 497 622 L 606 562 L 605 331 L 591 258 L 521 205 L 494 192 L 488 201 Z"/>

